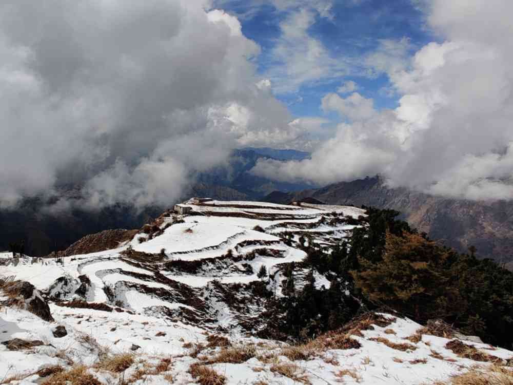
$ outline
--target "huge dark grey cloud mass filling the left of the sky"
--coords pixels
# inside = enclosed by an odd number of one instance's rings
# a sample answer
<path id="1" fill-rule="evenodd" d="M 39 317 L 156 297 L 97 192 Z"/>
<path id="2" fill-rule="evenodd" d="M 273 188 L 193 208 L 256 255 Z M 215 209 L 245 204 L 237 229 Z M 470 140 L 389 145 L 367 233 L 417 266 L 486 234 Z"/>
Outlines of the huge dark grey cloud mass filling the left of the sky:
<path id="1" fill-rule="evenodd" d="M 169 204 L 195 172 L 291 120 L 260 47 L 202 0 L 0 5 L 0 205 L 83 186 L 86 205 Z"/>

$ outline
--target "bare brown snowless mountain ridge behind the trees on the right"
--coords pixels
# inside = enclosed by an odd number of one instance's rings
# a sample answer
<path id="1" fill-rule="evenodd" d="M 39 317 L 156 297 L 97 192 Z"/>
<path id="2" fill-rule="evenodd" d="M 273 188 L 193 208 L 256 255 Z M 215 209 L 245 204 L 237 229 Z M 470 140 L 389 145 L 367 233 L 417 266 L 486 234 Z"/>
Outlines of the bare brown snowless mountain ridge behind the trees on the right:
<path id="1" fill-rule="evenodd" d="M 466 252 L 473 245 L 482 258 L 513 261 L 513 204 L 448 199 L 388 188 L 378 177 L 341 182 L 300 192 L 273 192 L 264 200 L 289 203 L 307 197 L 328 204 L 351 204 L 398 210 L 411 226 Z"/>

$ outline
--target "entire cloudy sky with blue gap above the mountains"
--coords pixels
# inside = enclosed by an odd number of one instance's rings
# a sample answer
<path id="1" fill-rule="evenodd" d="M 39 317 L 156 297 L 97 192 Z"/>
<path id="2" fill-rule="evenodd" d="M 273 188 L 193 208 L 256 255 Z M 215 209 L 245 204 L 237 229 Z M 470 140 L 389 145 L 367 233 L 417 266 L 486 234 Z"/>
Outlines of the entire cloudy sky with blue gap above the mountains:
<path id="1" fill-rule="evenodd" d="M 169 204 L 246 146 L 253 174 L 513 198 L 507 0 L 0 2 L 0 206 Z M 57 209 L 76 200 L 62 199 Z"/>

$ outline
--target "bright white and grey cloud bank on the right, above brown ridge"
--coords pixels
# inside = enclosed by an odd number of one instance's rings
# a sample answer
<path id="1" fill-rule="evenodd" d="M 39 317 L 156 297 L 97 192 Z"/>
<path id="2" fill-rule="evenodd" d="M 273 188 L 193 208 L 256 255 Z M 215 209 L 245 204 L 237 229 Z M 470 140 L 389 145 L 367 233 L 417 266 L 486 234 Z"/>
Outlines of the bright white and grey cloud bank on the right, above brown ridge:
<path id="1" fill-rule="evenodd" d="M 386 41 L 367 59 L 401 95 L 398 108 L 326 95 L 323 107 L 350 122 L 311 160 L 261 162 L 253 172 L 320 184 L 381 174 L 432 194 L 513 198 L 513 3 L 434 0 L 426 9 L 440 42 L 409 58 L 407 40 Z"/>

